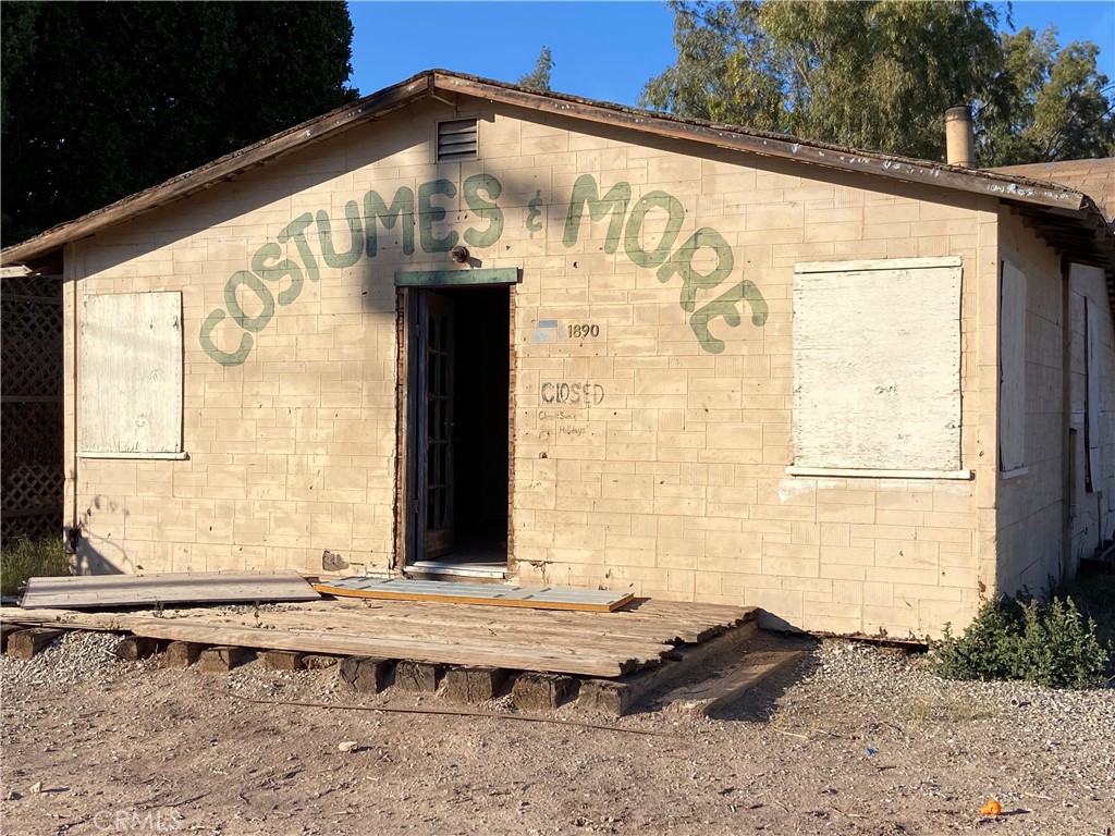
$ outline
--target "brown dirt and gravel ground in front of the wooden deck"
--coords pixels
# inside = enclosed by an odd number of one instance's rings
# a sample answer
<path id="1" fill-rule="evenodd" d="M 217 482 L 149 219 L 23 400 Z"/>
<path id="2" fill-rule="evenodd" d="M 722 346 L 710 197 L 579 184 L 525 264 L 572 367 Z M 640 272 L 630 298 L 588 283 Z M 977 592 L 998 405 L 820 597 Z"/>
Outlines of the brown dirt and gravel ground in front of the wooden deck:
<path id="1" fill-rule="evenodd" d="M 562 725 L 514 719 L 506 699 L 477 707 L 498 717 L 281 704 L 467 710 L 394 689 L 365 698 L 336 669 L 122 662 L 114 641 L 77 633 L 31 662 L 0 660 L 3 834 L 1107 836 L 1115 824 L 1111 689 L 942 682 L 899 651 L 767 636 L 805 659 L 718 717 L 545 716 Z M 981 817 L 992 797 L 1004 815 Z"/>

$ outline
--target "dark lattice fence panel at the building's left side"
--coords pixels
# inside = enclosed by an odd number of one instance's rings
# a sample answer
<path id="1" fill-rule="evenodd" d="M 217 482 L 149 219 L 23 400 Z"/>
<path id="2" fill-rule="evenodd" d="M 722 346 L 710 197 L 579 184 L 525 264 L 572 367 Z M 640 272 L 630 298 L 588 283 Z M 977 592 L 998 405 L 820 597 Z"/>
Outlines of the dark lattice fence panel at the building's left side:
<path id="1" fill-rule="evenodd" d="M 62 506 L 62 315 L 57 278 L 0 284 L 0 543 L 57 536 Z"/>

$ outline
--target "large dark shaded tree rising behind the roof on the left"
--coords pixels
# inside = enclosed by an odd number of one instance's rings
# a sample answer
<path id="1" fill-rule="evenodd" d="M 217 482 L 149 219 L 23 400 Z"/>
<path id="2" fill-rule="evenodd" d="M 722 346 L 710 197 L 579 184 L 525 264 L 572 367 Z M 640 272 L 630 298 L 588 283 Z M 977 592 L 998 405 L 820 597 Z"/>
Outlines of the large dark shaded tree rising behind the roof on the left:
<path id="1" fill-rule="evenodd" d="M 3 3 L 4 245 L 356 97 L 342 2 Z"/>

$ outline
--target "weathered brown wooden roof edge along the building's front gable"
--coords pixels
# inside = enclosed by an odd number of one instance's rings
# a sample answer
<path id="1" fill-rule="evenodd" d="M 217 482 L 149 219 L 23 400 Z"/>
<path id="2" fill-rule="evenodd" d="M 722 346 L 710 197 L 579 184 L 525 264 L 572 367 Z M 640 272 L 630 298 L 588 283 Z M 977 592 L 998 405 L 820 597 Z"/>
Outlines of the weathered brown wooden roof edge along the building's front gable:
<path id="1" fill-rule="evenodd" d="M 337 136 L 415 101 L 436 98 L 454 103 L 475 97 L 595 124 L 712 145 L 760 156 L 796 159 L 807 165 L 859 172 L 884 179 L 930 184 L 940 188 L 998 197 L 1017 206 L 1053 245 L 1073 259 L 1115 272 L 1115 231 L 1092 197 L 1057 183 L 1034 179 L 1029 173 L 962 168 L 941 163 L 861 152 L 780 134 L 682 119 L 605 101 L 558 93 L 526 90 L 515 85 L 433 69 L 387 87 L 317 119 L 304 121 L 254 145 L 227 154 L 192 172 L 124 197 L 104 208 L 54 226 L 0 252 L 0 264 L 32 270 L 57 270 L 61 247 L 123 221 L 213 187 L 246 171 L 268 165 L 294 150 Z M 1115 293 L 1115 291 L 1113 291 Z M 1113 300 L 1115 302 L 1115 300 Z"/>

